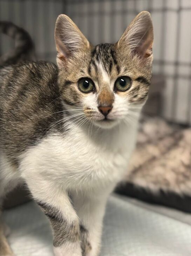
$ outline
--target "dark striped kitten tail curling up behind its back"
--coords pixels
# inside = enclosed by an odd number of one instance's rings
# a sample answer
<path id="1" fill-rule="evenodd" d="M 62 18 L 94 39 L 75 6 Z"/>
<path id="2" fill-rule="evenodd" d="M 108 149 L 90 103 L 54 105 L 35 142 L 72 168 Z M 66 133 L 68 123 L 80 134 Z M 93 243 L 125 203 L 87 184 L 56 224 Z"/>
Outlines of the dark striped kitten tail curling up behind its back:
<path id="1" fill-rule="evenodd" d="M 35 59 L 33 40 L 23 28 L 9 21 L 0 21 L 0 33 L 4 33 L 15 40 L 15 47 L 0 56 L 0 66 Z"/>

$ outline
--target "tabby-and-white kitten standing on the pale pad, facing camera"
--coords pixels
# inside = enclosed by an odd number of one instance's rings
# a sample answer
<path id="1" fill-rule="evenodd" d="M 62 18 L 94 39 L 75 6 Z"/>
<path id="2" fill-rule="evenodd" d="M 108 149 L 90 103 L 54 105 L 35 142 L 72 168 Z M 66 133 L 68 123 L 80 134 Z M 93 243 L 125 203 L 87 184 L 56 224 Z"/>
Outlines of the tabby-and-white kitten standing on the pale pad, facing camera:
<path id="1" fill-rule="evenodd" d="M 24 180 L 50 220 L 54 255 L 98 256 L 105 204 L 148 95 L 151 16 L 139 13 L 116 44 L 94 47 L 60 15 L 55 42 L 58 67 L 0 69 L 0 196 Z"/>

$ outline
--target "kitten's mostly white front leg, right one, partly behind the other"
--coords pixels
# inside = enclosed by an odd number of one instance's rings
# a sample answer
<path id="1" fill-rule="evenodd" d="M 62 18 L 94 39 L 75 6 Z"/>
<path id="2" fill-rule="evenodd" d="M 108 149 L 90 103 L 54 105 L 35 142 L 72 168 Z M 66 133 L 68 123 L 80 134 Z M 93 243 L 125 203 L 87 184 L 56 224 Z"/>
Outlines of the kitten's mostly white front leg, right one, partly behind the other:
<path id="1" fill-rule="evenodd" d="M 102 222 L 109 193 L 75 195 L 74 205 L 80 218 L 80 237 L 83 256 L 98 256 L 101 248 Z"/>

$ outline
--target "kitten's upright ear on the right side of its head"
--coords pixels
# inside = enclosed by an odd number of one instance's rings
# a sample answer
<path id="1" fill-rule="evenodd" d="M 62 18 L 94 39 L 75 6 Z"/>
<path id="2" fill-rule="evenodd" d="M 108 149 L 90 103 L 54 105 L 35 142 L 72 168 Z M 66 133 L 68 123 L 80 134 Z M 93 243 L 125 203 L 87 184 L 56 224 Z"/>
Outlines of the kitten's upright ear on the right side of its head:
<path id="1" fill-rule="evenodd" d="M 137 53 L 140 57 L 147 58 L 152 55 L 153 26 L 151 15 L 147 11 L 140 12 L 131 21 L 123 33 L 117 46 L 124 51 Z"/>

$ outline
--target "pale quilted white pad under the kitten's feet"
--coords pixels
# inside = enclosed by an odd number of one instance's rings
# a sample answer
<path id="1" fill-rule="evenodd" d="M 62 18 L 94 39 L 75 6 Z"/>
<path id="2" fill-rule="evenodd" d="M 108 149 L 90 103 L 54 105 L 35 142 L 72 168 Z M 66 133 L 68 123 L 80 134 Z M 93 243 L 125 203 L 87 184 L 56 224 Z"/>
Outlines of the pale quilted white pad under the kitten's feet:
<path id="1" fill-rule="evenodd" d="M 16 256 L 53 256 L 48 219 L 34 202 L 5 211 L 4 219 Z M 112 195 L 101 256 L 191 256 L 190 223 L 191 215 Z"/>

